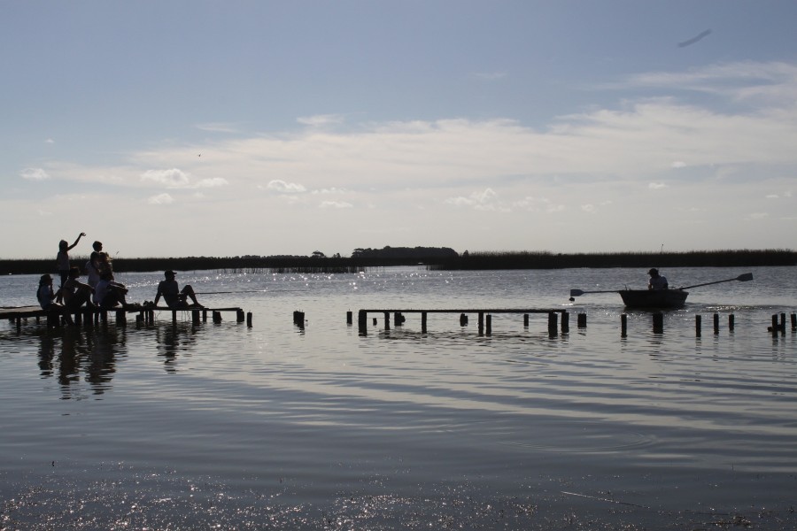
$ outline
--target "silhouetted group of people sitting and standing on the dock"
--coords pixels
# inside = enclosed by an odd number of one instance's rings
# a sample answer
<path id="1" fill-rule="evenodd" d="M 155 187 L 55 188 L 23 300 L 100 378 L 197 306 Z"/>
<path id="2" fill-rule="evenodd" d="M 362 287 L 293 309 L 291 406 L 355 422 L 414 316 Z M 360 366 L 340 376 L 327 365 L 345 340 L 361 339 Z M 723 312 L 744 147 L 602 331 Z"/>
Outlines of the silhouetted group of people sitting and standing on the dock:
<path id="1" fill-rule="evenodd" d="M 79 280 L 81 269 L 78 266 L 71 266 L 69 251 L 74 249 L 85 235 L 86 233 L 78 235 L 72 245 L 69 245 L 66 240 L 58 242 L 56 262 L 61 285 L 57 290 L 53 289 L 53 280 L 49 273 L 43 274 L 39 279 L 36 299 L 43 310 L 64 312 L 67 322 L 70 322 L 70 312 L 77 312 L 83 305 L 104 309 L 156 307 L 160 298 L 163 297 L 166 305 L 171 309 L 203 307 L 197 301 L 194 289 L 190 285 L 180 289 L 175 280 L 176 273 L 171 270 L 164 273 L 166 279 L 159 282 L 153 302 L 128 303 L 126 298 L 128 288 L 114 280 L 112 259 L 108 253 L 103 251 L 102 242 L 92 244 L 93 251 L 85 265 L 87 281 L 81 282 Z"/>

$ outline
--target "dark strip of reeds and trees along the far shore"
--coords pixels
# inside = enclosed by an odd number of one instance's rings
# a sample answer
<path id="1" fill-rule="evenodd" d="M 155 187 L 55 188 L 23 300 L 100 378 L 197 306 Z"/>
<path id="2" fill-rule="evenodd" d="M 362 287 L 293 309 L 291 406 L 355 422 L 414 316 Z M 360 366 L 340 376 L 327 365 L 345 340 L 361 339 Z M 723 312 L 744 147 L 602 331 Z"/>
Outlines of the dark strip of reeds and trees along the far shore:
<path id="1" fill-rule="evenodd" d="M 75 256 L 73 266 L 88 257 Z M 429 271 L 571 269 L 611 267 L 754 267 L 795 266 L 797 251 L 691 250 L 682 252 L 552 253 L 548 251 L 474 251 L 461 254 L 446 247 L 384 247 L 355 249 L 351 257 L 327 257 L 320 251 L 311 256 L 243 256 L 183 258 L 114 258 L 118 273 L 175 271 L 221 271 L 223 273 L 360 273 L 372 268 L 424 266 Z M 55 259 L 0 259 L 0 274 L 52 273 Z"/>

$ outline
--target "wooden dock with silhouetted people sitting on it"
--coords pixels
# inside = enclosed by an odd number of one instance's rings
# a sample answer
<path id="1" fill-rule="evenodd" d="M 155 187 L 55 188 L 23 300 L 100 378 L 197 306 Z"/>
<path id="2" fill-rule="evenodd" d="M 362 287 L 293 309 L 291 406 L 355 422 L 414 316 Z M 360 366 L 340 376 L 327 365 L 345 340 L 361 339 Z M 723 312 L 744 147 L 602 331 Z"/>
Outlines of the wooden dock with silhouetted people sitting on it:
<path id="1" fill-rule="evenodd" d="M 17 325 L 19 332 L 22 327 L 23 320 L 36 319 L 36 322 L 41 322 L 42 319 L 47 323 L 47 327 L 60 327 L 62 321 L 68 314 L 74 320 L 77 326 L 92 327 L 98 323 L 107 323 L 108 314 L 114 314 L 116 325 L 118 327 L 125 327 L 128 324 L 128 314 L 135 314 L 135 324 L 138 327 L 149 326 L 155 323 L 156 312 L 171 312 L 172 322 L 177 323 L 177 314 L 179 312 L 190 312 L 191 322 L 198 325 L 207 320 L 208 313 L 211 314 L 214 323 L 221 322 L 222 312 L 235 312 L 236 322 L 244 322 L 246 320 L 247 326 L 251 327 L 251 312 L 244 315 L 244 310 L 241 308 L 169 308 L 168 306 L 141 306 L 130 305 L 126 307 L 118 306 L 114 308 L 100 308 L 97 306 L 81 306 L 77 310 L 70 311 L 46 311 L 40 306 L 17 306 L 17 307 L 2 307 L 0 308 L 0 319 L 9 319 Z"/>

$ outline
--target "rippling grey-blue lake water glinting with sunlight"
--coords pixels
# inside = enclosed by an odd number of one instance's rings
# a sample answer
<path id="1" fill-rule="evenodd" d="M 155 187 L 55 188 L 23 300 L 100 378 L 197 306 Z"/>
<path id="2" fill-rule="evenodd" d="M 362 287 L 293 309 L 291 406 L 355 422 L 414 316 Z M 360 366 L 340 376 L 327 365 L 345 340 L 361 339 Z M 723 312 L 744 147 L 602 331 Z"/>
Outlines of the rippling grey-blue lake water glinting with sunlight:
<path id="1" fill-rule="evenodd" d="M 619 295 L 569 290 L 645 271 L 179 272 L 237 292 L 200 301 L 253 327 L 4 321 L 0 529 L 793 529 L 797 334 L 767 327 L 797 310 L 797 268 L 662 271 L 747 272 L 691 290 L 662 334 L 629 311 L 625 338 Z M 161 278 L 118 275 L 137 302 Z M 0 279 L 0 304 L 35 304 L 36 284 Z M 417 314 L 369 317 L 360 335 L 360 308 L 572 313 L 553 337 L 544 314 L 493 315 L 490 336 L 476 316 L 429 314 L 425 334 Z"/>

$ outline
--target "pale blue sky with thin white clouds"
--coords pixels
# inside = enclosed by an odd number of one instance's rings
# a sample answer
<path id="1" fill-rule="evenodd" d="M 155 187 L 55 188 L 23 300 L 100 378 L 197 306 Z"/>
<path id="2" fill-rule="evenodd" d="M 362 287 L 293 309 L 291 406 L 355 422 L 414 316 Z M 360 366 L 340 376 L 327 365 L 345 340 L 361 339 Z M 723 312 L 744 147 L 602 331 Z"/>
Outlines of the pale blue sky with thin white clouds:
<path id="1" fill-rule="evenodd" d="M 0 258 L 797 248 L 797 2 L 0 0 Z"/>

